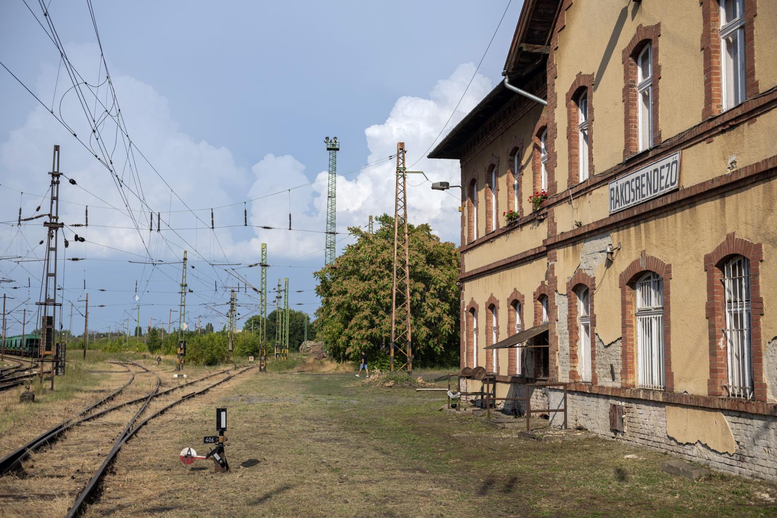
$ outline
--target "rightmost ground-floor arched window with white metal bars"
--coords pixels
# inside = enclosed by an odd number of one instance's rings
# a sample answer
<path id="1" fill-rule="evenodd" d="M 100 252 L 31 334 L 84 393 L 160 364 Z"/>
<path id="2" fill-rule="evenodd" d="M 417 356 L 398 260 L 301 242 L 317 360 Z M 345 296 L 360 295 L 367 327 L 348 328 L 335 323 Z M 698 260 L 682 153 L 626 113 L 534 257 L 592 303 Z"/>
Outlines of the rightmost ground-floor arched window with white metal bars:
<path id="1" fill-rule="evenodd" d="M 753 356 L 750 335 L 750 261 L 735 256 L 723 266 L 726 301 L 726 349 L 731 398 L 753 397 Z"/>

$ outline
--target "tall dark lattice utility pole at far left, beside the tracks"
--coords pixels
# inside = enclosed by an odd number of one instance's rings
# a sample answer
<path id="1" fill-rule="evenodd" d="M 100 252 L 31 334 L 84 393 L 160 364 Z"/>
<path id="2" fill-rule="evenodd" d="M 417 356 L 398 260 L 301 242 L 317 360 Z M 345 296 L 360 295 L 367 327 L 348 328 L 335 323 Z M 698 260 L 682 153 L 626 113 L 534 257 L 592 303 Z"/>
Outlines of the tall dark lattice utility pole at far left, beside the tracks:
<path id="1" fill-rule="evenodd" d="M 64 224 L 59 222 L 59 146 L 54 145 L 54 155 L 51 160 L 51 196 L 49 198 L 49 220 L 46 227 L 46 256 L 44 259 L 43 300 L 37 302 L 43 306 L 40 319 L 40 382 L 44 379 L 44 361 L 51 361 L 51 388 L 54 389 L 54 322 L 57 322 L 57 251 L 59 248 L 59 229 Z M 75 180 L 71 180 L 75 183 Z M 51 360 L 46 360 L 50 356 Z"/>

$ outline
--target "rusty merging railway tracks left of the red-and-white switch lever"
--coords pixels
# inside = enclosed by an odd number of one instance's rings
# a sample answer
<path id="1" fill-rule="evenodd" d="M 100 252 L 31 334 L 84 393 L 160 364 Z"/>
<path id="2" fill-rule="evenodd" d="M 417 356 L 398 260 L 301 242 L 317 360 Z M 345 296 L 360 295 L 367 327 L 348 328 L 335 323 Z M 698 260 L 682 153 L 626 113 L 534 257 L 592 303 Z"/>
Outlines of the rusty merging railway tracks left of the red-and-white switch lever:
<path id="1" fill-rule="evenodd" d="M 117 405 L 97 412 L 93 405 L 55 426 L 0 460 L 0 475 L 5 475 L 0 478 L 0 506 L 26 499 L 26 513 L 33 506 L 40 507 L 41 514 L 77 516 L 99 495 L 104 475 L 120 448 L 138 429 L 172 406 L 203 394 L 249 368 L 252 367 L 221 370 L 163 391 L 159 390 L 159 377 L 152 373 L 156 381 L 149 385 L 146 380 L 143 395 L 138 396 L 136 384 L 133 391 L 125 391 L 124 401 Z M 146 370 L 142 374 L 150 372 Z M 56 445 L 55 440 L 58 440 Z M 42 449 L 45 445 L 49 447 Z M 32 454 L 36 450 L 40 452 Z M 12 471 L 18 471 L 19 476 L 9 475 Z M 41 488 L 47 492 L 42 493 Z"/>

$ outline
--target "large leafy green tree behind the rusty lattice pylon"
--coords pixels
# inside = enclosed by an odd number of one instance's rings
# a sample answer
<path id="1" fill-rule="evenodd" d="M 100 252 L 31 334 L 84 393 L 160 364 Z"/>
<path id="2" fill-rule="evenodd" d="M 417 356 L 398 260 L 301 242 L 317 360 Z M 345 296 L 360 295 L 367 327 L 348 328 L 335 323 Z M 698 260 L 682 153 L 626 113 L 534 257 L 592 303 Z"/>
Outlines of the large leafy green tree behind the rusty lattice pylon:
<path id="1" fill-rule="evenodd" d="M 357 242 L 315 273 L 319 339 L 337 359 L 355 360 L 360 349 L 389 351 L 394 218 L 384 214 L 378 222 L 375 234 L 349 228 Z M 409 225 L 408 233 L 413 359 L 449 363 L 458 356 L 458 250 L 428 224 Z"/>

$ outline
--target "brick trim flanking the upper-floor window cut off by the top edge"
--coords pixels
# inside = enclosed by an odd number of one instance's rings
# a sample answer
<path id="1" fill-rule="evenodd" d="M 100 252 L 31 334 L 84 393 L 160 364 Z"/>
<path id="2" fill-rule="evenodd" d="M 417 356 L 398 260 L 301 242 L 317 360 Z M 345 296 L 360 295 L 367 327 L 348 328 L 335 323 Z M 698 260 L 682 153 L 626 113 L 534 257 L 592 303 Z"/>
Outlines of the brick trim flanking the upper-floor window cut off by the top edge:
<path id="1" fill-rule="evenodd" d="M 757 0 L 744 0 L 744 91 L 745 99 L 758 96 L 755 77 L 755 16 Z M 720 48 L 720 1 L 699 0 L 702 5 L 702 58 L 704 68 L 704 106 L 702 120 L 723 111 L 723 62 Z"/>

